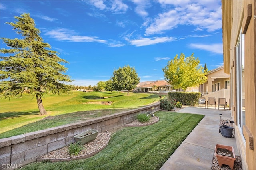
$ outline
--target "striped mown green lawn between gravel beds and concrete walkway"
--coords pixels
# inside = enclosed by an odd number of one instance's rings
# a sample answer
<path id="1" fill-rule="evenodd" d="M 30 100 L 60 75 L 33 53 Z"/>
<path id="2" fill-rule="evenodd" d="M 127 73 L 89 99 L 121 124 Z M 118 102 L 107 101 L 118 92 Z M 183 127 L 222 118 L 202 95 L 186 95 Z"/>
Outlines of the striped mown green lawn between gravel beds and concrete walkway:
<path id="1" fill-rule="evenodd" d="M 98 154 L 69 162 L 38 162 L 24 170 L 158 170 L 204 115 L 158 111 L 158 123 L 114 133 Z"/>

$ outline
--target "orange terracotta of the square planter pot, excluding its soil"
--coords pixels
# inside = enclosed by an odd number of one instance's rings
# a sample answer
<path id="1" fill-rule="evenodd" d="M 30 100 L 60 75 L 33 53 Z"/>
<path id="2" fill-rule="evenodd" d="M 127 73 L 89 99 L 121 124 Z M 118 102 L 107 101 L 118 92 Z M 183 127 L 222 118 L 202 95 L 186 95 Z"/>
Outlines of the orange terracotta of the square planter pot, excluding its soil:
<path id="1" fill-rule="evenodd" d="M 233 153 L 233 157 L 217 154 L 218 148 L 227 149 L 227 150 L 231 151 Z M 228 165 L 231 169 L 233 169 L 234 162 L 236 160 L 236 156 L 235 156 L 234 148 L 232 146 L 225 146 L 225 145 L 221 145 L 221 144 L 216 144 L 214 154 L 215 154 L 215 156 L 218 160 L 219 166 L 222 166 L 223 164 L 225 164 L 225 165 Z"/>

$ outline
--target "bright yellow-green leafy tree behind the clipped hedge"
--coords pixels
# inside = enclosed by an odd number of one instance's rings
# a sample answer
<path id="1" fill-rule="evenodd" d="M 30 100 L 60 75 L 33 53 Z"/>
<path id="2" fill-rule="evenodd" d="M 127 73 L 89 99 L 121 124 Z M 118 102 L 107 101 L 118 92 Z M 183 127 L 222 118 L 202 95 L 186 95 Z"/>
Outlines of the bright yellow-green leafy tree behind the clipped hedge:
<path id="1" fill-rule="evenodd" d="M 164 77 L 167 83 L 174 86 L 175 89 L 183 89 L 186 91 L 188 87 L 199 86 L 207 81 L 207 71 L 204 71 L 202 66 L 199 66 L 199 59 L 191 56 L 186 57 L 183 53 L 168 61 L 164 71 Z"/>

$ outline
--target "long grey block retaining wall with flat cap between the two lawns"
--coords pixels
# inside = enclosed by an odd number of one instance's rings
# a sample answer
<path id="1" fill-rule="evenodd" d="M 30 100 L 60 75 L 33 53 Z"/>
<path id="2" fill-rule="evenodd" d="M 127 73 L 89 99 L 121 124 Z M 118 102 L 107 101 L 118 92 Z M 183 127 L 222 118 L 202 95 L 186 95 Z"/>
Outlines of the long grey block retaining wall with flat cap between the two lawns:
<path id="1" fill-rule="evenodd" d="M 151 110 L 152 107 L 154 110 Z M 135 116 L 140 113 L 158 110 L 160 102 L 139 109 L 0 139 L 0 169 L 15 169 L 34 162 L 37 157 L 74 142 L 73 136 L 85 130 L 114 130 L 134 121 Z"/>

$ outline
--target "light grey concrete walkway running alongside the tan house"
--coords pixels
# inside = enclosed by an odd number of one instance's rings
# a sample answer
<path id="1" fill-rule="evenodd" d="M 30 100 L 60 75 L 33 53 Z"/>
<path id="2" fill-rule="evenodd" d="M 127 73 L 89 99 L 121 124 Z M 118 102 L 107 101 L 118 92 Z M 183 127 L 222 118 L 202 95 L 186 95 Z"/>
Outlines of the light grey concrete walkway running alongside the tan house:
<path id="1" fill-rule="evenodd" d="M 231 118 L 230 110 L 185 107 L 177 112 L 202 114 L 205 117 L 160 170 L 210 170 L 216 144 L 233 146 L 235 154 L 239 155 L 235 138 L 225 138 L 219 134 L 220 116 L 224 120 Z"/>

